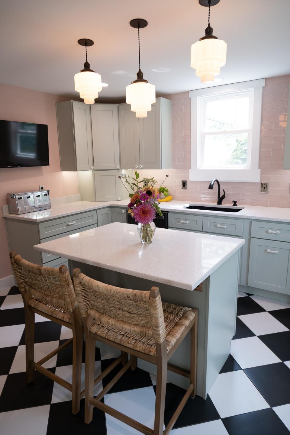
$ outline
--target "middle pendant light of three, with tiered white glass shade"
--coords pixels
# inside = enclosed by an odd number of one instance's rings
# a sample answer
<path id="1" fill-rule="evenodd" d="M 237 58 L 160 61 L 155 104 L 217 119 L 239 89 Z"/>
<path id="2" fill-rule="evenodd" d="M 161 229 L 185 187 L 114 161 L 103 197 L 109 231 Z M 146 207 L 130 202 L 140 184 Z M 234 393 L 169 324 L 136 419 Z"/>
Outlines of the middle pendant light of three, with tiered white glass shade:
<path id="1" fill-rule="evenodd" d="M 130 21 L 130 26 L 138 29 L 139 71 L 137 79 L 126 87 L 126 103 L 131 104 L 131 110 L 136 113 L 137 118 L 146 118 L 147 112 L 151 110 L 151 104 L 155 103 L 155 86 L 143 79 L 143 72 L 140 70 L 140 29 L 147 24 L 142 18 Z"/>

